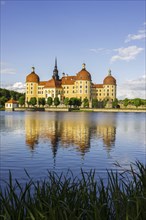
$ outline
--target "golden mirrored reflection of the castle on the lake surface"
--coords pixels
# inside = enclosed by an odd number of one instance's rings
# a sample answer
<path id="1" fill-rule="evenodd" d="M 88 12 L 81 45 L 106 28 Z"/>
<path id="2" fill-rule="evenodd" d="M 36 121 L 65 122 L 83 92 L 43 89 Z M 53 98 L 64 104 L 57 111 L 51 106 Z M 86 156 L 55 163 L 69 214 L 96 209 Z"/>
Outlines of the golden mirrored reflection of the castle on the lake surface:
<path id="1" fill-rule="evenodd" d="M 53 157 L 58 147 L 74 147 L 84 155 L 89 151 L 92 142 L 98 141 L 109 152 L 115 144 L 116 117 L 110 114 L 107 118 L 95 117 L 94 113 L 28 113 L 25 115 L 26 144 L 34 150 L 37 144 L 51 145 Z M 96 144 L 97 141 L 97 144 Z"/>

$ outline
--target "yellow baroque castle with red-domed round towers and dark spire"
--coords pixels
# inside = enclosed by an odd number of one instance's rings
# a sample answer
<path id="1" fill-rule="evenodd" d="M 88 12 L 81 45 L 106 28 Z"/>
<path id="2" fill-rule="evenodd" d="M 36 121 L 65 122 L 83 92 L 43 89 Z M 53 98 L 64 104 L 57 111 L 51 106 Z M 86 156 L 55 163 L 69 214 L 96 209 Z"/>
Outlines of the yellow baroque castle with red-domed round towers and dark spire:
<path id="1" fill-rule="evenodd" d="M 98 101 L 110 100 L 116 98 L 116 79 L 111 75 L 111 70 L 104 78 L 103 84 L 92 82 L 91 74 L 86 70 L 86 65 L 82 65 L 81 71 L 74 76 L 62 74 L 59 77 L 57 68 L 57 59 L 55 59 L 55 67 L 52 79 L 48 81 L 40 81 L 39 76 L 32 67 L 32 72 L 26 77 L 26 105 L 32 97 L 39 98 L 58 97 L 63 103 L 65 98 L 80 98 L 82 101 L 87 98 L 90 102 L 92 99 Z"/>

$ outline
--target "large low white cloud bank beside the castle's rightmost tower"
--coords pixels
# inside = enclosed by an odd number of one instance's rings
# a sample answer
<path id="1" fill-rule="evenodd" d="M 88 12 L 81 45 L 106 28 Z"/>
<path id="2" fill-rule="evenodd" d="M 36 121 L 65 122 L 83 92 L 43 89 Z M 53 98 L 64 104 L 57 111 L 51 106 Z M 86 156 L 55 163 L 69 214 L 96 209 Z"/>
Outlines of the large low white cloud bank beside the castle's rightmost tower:
<path id="1" fill-rule="evenodd" d="M 143 98 L 146 99 L 146 76 L 127 80 L 117 88 L 118 99 Z"/>

